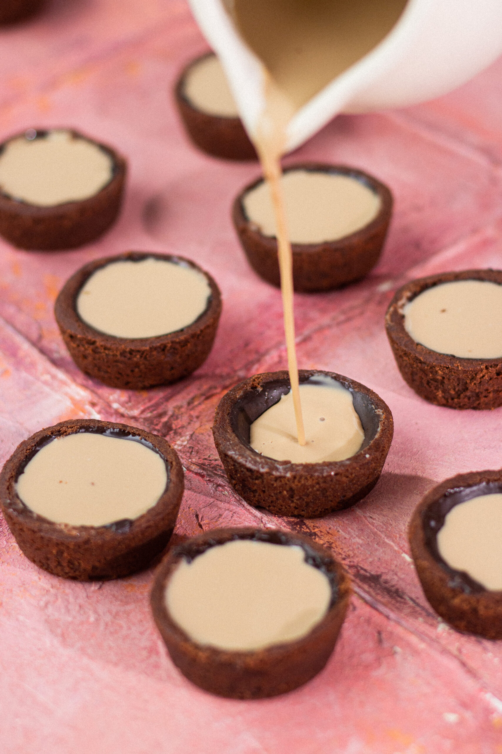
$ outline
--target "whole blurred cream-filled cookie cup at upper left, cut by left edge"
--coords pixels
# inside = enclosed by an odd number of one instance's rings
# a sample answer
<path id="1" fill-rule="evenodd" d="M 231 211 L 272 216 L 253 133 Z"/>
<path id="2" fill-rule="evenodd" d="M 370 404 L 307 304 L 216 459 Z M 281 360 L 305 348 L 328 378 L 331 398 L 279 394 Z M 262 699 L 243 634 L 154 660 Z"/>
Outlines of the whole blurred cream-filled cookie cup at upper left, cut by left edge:
<path id="1" fill-rule="evenodd" d="M 74 130 L 29 128 L 0 145 L 0 234 L 26 250 L 73 249 L 117 219 L 126 161 Z"/>

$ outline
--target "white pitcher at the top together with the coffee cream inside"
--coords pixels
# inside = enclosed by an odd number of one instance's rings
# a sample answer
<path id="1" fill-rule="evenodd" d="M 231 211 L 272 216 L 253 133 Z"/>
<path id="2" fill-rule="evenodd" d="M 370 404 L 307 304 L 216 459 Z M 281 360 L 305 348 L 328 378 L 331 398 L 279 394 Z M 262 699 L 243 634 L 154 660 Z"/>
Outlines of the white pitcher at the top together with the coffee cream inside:
<path id="1" fill-rule="evenodd" d="M 502 52 L 500 0 L 190 0 L 190 5 L 221 58 L 248 133 L 265 109 L 267 72 L 288 92 L 294 107 L 284 152 L 339 112 L 438 97 Z"/>

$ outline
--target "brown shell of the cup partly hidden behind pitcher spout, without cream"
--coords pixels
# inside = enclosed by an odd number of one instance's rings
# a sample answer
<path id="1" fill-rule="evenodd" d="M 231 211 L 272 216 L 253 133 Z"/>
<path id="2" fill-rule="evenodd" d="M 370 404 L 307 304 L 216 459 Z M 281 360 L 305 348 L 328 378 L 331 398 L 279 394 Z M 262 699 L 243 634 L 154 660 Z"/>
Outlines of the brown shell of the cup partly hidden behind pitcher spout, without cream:
<path id="1" fill-rule="evenodd" d="M 192 60 L 175 85 L 175 100 L 184 127 L 195 146 L 212 157 L 224 160 L 257 160 L 257 153 L 252 145 L 240 118 L 211 115 L 196 108 L 185 93 L 187 74 L 205 57 L 214 56 L 208 52 Z"/>

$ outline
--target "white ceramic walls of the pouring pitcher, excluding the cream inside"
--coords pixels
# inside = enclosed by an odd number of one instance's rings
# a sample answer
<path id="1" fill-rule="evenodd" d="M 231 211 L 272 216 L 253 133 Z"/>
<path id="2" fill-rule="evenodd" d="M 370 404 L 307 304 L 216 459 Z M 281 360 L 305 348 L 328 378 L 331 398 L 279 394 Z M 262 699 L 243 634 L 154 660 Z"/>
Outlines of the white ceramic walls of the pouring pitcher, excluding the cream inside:
<path id="1" fill-rule="evenodd" d="M 242 121 L 253 133 L 265 105 L 263 65 L 239 37 L 222 0 L 189 2 L 221 59 Z M 376 48 L 294 115 L 284 151 L 300 146 L 339 112 L 404 107 L 439 97 L 501 52 L 502 0 L 409 0 Z"/>

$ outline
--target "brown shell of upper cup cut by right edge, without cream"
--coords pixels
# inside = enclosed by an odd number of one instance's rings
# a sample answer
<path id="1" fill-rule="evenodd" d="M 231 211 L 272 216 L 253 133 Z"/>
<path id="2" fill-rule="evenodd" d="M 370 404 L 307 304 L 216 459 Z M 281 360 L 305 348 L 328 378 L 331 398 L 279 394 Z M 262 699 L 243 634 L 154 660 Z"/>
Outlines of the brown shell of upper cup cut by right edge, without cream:
<path id="1" fill-rule="evenodd" d="M 403 285 L 389 305 L 385 329 L 404 381 L 421 398 L 450 409 L 502 406 L 502 357 L 465 359 L 431 351 L 415 342 L 404 326 L 403 310 L 427 288 L 453 280 L 488 280 L 502 285 L 500 270 L 464 270 L 420 277 Z"/>

